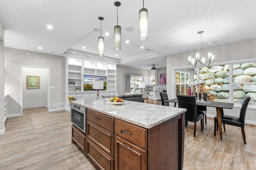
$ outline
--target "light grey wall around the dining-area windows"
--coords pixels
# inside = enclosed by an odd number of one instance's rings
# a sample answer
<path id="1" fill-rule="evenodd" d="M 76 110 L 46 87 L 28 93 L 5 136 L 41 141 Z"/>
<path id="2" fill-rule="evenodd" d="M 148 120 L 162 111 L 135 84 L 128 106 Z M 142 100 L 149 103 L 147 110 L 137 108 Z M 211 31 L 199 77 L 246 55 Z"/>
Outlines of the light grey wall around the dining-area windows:
<path id="1" fill-rule="evenodd" d="M 255 59 L 256 61 L 256 39 L 249 39 L 246 41 L 239 41 L 230 44 L 219 45 L 211 48 L 205 48 L 205 51 L 212 51 L 215 55 L 214 64 L 224 63 L 230 61 L 238 61 L 244 59 Z M 174 55 L 169 55 L 166 57 L 167 67 L 167 93 L 169 98 L 174 98 L 175 94 L 173 93 L 173 89 L 175 88 L 172 81 L 172 76 L 174 75 L 172 72 L 172 68 L 189 66 L 188 64 L 188 56 L 194 56 L 196 51 L 188 51 L 185 53 L 179 53 Z M 173 105 L 171 105 L 173 106 Z M 239 115 L 240 108 L 233 109 L 224 109 L 224 113 L 228 115 Z M 207 108 L 207 114 L 211 114 L 212 116 L 216 115 L 215 108 Z M 246 120 L 248 121 L 256 121 L 255 110 L 248 109 L 246 113 Z"/>

